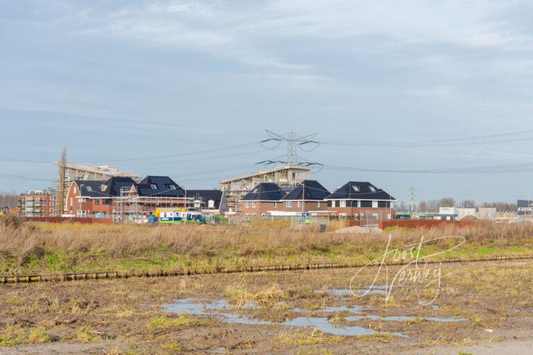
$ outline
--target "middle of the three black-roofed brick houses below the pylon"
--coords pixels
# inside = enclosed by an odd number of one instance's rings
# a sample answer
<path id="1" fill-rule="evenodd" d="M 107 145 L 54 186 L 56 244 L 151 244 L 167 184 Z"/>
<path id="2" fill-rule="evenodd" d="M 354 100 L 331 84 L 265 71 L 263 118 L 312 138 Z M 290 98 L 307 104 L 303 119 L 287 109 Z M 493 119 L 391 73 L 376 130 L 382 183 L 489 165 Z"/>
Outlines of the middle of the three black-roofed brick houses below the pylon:
<path id="1" fill-rule="evenodd" d="M 330 191 L 316 180 L 303 180 L 283 198 L 284 211 L 325 211 L 328 204 L 324 201 Z"/>

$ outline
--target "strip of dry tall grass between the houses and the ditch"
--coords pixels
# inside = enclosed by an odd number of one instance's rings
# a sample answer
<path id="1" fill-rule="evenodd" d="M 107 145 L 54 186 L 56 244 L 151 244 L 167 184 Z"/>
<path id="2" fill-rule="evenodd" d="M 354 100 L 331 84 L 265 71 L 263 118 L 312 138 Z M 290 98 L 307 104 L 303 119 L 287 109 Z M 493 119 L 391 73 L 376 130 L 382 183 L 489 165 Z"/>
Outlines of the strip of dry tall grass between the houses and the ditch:
<path id="1" fill-rule="evenodd" d="M 477 223 L 459 229 L 391 228 L 383 233 L 337 234 L 340 223 L 319 233 L 316 226 L 291 228 L 287 221 L 249 225 L 82 225 L 22 224 L 0 220 L 0 274 L 174 270 L 318 262 L 370 261 L 385 250 L 441 236 L 466 242 L 446 252 L 452 241 L 425 243 L 421 255 L 488 257 L 533 252 L 533 225 Z"/>

